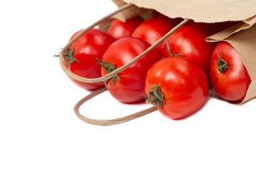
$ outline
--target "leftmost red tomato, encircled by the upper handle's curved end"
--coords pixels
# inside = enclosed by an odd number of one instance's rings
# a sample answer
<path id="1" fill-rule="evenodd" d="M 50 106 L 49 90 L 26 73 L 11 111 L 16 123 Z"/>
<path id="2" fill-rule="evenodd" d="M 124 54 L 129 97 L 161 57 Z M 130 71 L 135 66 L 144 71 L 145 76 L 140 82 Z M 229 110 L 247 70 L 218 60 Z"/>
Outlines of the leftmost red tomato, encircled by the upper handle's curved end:
<path id="1" fill-rule="evenodd" d="M 70 40 L 80 33 L 80 31 L 81 30 L 75 33 Z M 70 46 L 70 49 L 68 49 L 68 55 L 65 57 L 66 67 L 80 77 L 89 79 L 101 77 L 101 67 L 97 64 L 96 58 L 102 59 L 105 50 L 107 50 L 107 47 L 114 41 L 111 35 L 102 30 L 96 28 L 89 30 L 82 35 L 82 37 L 78 38 L 78 40 Z M 89 91 L 104 86 L 103 82 L 90 84 L 77 81 L 72 77 L 70 77 L 70 79 L 75 84 L 82 87 L 82 89 Z"/>

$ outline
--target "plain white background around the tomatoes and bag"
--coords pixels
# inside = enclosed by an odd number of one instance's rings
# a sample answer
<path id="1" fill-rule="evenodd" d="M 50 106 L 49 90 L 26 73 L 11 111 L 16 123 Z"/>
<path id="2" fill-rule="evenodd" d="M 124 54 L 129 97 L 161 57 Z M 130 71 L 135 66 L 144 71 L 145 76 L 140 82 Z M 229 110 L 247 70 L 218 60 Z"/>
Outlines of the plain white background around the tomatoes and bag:
<path id="1" fill-rule="evenodd" d="M 255 99 L 236 106 L 209 97 L 178 121 L 156 111 L 102 127 L 75 115 L 89 92 L 53 55 L 75 31 L 117 9 L 112 1 L 0 4 L 0 169 L 256 169 Z M 80 112 L 107 119 L 148 107 L 124 105 L 106 91 Z"/>

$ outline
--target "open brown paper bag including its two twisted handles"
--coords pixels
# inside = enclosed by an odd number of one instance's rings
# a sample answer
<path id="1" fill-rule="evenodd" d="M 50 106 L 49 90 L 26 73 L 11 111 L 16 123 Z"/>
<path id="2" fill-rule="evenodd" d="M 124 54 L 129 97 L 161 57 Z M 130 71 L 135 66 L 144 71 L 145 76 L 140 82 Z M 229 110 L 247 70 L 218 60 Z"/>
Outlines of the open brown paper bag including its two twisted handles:
<path id="1" fill-rule="evenodd" d="M 250 2 L 243 3 L 238 0 L 215 0 L 214 2 L 209 1 L 203 1 L 203 0 L 193 0 L 193 1 L 186 1 L 186 0 L 112 0 L 114 1 L 117 6 L 119 6 L 119 9 L 117 11 L 113 11 L 107 16 L 104 16 L 99 21 L 96 21 L 91 26 L 88 26 L 84 30 L 82 30 L 78 35 L 75 36 L 72 40 L 68 42 L 65 47 L 63 47 L 63 50 L 60 52 L 60 66 L 62 67 L 63 71 L 68 74 L 68 76 L 73 77 L 73 79 L 76 79 L 78 81 L 87 82 L 87 83 L 97 83 L 100 81 L 105 81 L 106 79 L 110 79 L 112 76 L 118 74 L 119 72 L 122 72 L 122 70 L 126 69 L 127 67 L 131 66 L 135 62 L 137 62 L 140 58 L 142 58 L 144 55 L 146 55 L 147 52 L 149 52 L 151 49 L 159 45 L 162 41 L 164 41 L 171 33 L 174 33 L 178 28 L 188 23 L 190 19 L 192 19 L 195 22 L 204 22 L 204 23 L 216 23 L 216 22 L 223 22 L 223 21 L 242 21 L 241 23 L 238 23 L 235 26 L 232 26 L 226 30 L 222 30 L 218 33 L 215 33 L 214 35 L 211 35 L 210 37 L 206 38 L 206 41 L 208 42 L 218 42 L 218 41 L 226 41 L 230 42 L 233 47 L 238 51 L 238 54 L 241 57 L 242 62 L 245 64 L 245 67 L 247 69 L 247 72 L 250 75 L 251 78 L 251 84 L 249 86 L 249 89 L 247 90 L 247 94 L 244 98 L 244 100 L 241 103 L 244 103 L 245 101 L 250 100 L 251 98 L 254 98 L 256 96 L 256 0 L 252 0 Z M 122 13 L 119 13 L 122 11 Z M 104 25 L 107 20 L 109 20 L 111 17 L 119 18 L 122 21 L 125 21 L 129 18 L 132 18 L 134 16 L 140 15 L 144 16 L 144 18 L 151 18 L 154 15 L 154 12 L 157 11 L 159 13 L 163 13 L 166 16 L 169 16 L 170 18 L 184 18 L 184 20 L 179 23 L 176 27 L 174 27 L 172 30 L 169 31 L 169 33 L 166 33 L 160 40 L 155 42 L 149 49 L 142 52 L 142 54 L 135 57 L 132 61 L 125 64 L 122 67 L 119 67 L 118 69 L 115 69 L 113 72 L 110 72 L 109 74 L 94 78 L 94 79 L 87 79 L 85 77 L 79 77 L 76 74 L 73 74 L 73 72 L 70 72 L 63 62 L 63 56 L 65 51 L 72 45 L 75 40 L 78 40 L 80 36 L 82 36 L 84 33 L 86 33 L 91 28 L 94 28 L 95 26 L 99 26 L 99 24 Z M 115 16 L 114 16 L 115 15 Z M 142 115 L 146 115 L 148 113 L 151 113 L 152 111 L 156 111 L 156 107 L 151 107 L 148 109 L 145 109 L 144 111 L 139 111 L 137 113 L 134 113 L 132 115 L 124 116 L 123 118 L 117 118 L 112 120 L 94 120 L 90 118 L 86 118 L 85 116 L 81 115 L 79 113 L 79 107 L 82 105 L 82 103 L 85 103 L 85 101 L 89 100 L 90 98 L 96 96 L 97 94 L 100 94 L 102 91 L 105 91 L 105 88 L 98 89 L 96 91 L 93 91 L 88 96 L 85 96 L 85 98 L 82 98 L 81 101 L 79 101 L 74 111 L 76 115 L 78 115 L 78 118 L 81 120 L 95 124 L 95 125 L 113 125 L 117 123 L 123 123 L 127 120 L 132 120 L 134 118 L 139 118 Z"/>

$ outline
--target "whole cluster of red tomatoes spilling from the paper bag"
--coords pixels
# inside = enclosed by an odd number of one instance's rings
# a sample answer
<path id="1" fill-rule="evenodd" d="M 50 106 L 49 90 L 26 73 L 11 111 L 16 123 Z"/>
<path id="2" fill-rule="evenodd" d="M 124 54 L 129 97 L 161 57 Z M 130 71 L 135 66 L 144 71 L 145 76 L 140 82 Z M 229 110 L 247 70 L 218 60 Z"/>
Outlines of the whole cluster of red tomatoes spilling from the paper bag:
<path id="1" fill-rule="evenodd" d="M 78 38 L 64 56 L 65 65 L 80 77 L 102 77 L 144 52 L 180 21 L 161 14 L 146 21 L 139 16 L 126 22 L 113 18 L 107 30 L 93 28 Z M 201 108 L 210 84 L 220 97 L 241 101 L 250 77 L 238 52 L 228 42 L 205 40 L 233 24 L 190 21 L 105 82 L 90 84 L 70 79 L 89 91 L 106 86 L 123 103 L 146 100 L 172 119 L 185 118 Z"/>

